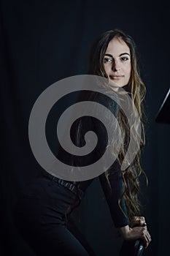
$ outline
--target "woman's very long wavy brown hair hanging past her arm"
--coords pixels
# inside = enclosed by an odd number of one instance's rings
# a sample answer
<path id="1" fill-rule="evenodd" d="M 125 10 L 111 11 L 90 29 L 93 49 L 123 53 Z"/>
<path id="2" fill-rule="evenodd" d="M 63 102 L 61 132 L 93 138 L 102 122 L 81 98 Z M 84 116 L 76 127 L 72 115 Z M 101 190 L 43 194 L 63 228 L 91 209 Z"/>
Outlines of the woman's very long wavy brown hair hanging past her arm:
<path id="1" fill-rule="evenodd" d="M 128 218 L 130 220 L 130 223 L 132 223 L 132 219 L 134 218 L 134 216 L 140 215 L 141 211 L 137 195 L 139 193 L 139 176 L 142 173 L 144 173 L 140 165 L 140 155 L 142 148 L 144 146 L 144 124 L 142 121 L 144 110 L 142 102 L 146 93 L 144 83 L 142 82 L 142 78 L 139 74 L 139 65 L 136 57 L 136 45 L 134 43 L 134 39 L 132 39 L 128 34 L 125 34 L 123 31 L 120 31 L 118 29 L 106 31 L 103 34 L 101 34 L 95 40 L 91 48 L 88 73 L 90 75 L 99 75 L 104 78 L 107 78 L 107 73 L 104 70 L 104 54 L 106 53 L 109 42 L 113 38 L 122 39 L 130 49 L 131 78 L 128 81 L 128 84 L 124 87 L 124 89 L 125 91 L 127 91 L 127 94 L 131 97 L 134 107 L 138 111 L 140 123 L 142 125 L 142 138 L 140 139 L 139 151 L 136 154 L 134 162 L 125 171 L 121 171 L 124 187 L 124 192 L 122 196 L 125 198 L 125 205 L 128 212 Z M 128 127 L 127 120 L 125 119 L 125 116 L 123 116 L 123 112 L 121 110 L 118 114 L 118 120 L 121 132 L 124 135 L 127 146 L 130 140 L 129 129 L 131 129 L 131 127 Z M 134 125 L 134 129 L 136 130 L 136 135 L 138 135 L 138 127 L 135 127 Z M 123 162 L 124 157 L 125 146 L 122 146 L 118 157 L 120 164 L 121 162 Z M 109 174 L 106 173 L 107 181 L 109 182 L 108 175 Z"/>

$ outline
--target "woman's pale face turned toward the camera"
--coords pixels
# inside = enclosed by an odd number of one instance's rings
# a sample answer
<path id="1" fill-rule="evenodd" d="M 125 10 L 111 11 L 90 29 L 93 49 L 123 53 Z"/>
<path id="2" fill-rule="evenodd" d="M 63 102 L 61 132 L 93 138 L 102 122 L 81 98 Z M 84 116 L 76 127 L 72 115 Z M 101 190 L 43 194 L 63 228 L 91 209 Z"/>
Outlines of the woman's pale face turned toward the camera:
<path id="1" fill-rule="evenodd" d="M 104 69 L 115 91 L 128 84 L 131 77 L 131 53 L 123 39 L 114 38 L 109 42 L 104 55 Z"/>

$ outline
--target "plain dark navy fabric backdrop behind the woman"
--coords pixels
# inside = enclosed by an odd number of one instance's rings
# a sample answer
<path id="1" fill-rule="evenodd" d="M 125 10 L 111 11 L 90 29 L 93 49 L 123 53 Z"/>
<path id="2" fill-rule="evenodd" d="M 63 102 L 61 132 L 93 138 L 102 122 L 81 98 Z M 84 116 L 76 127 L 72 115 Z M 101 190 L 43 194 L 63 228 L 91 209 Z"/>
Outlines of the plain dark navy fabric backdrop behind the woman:
<path id="1" fill-rule="evenodd" d="M 28 142 L 28 118 L 36 98 L 61 78 L 85 74 L 93 39 L 115 28 L 134 37 L 147 85 L 142 166 L 149 187 L 142 198 L 152 244 L 145 255 L 169 251 L 170 126 L 155 123 L 170 85 L 168 1 L 2 0 L 0 255 L 34 255 L 15 229 L 12 210 L 20 189 L 41 172 Z M 115 239 L 98 180 L 77 211 L 96 254 L 117 255 L 121 241 Z"/>

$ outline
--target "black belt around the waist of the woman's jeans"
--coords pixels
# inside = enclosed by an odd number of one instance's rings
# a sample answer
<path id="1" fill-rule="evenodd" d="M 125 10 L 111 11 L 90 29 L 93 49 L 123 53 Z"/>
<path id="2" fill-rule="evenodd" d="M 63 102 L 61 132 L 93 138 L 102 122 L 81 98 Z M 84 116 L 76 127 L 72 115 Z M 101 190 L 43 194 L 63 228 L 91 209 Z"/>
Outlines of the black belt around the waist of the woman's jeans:
<path id="1" fill-rule="evenodd" d="M 74 184 L 72 184 L 72 182 L 65 181 L 62 178 L 57 178 L 50 173 L 43 173 L 43 176 L 45 176 L 46 178 L 50 178 L 50 180 L 60 184 L 63 187 L 66 187 L 67 189 L 72 191 L 75 195 L 79 195 L 80 198 L 84 196 L 84 192 L 81 189 L 77 188 Z"/>

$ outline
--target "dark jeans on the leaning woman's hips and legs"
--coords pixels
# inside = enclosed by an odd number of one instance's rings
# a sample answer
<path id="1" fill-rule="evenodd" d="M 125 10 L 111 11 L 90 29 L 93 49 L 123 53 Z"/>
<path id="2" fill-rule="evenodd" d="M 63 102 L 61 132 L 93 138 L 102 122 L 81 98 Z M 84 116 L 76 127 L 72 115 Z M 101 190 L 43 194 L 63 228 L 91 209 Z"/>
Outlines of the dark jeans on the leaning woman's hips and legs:
<path id="1" fill-rule="evenodd" d="M 74 236 L 67 227 L 66 214 L 78 203 L 77 195 L 46 177 L 26 187 L 15 207 L 15 224 L 36 255 L 94 255 L 82 235 L 79 239 L 77 230 Z"/>

